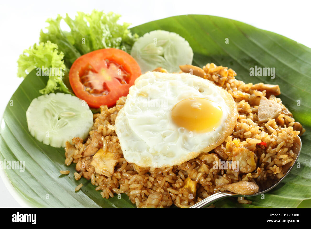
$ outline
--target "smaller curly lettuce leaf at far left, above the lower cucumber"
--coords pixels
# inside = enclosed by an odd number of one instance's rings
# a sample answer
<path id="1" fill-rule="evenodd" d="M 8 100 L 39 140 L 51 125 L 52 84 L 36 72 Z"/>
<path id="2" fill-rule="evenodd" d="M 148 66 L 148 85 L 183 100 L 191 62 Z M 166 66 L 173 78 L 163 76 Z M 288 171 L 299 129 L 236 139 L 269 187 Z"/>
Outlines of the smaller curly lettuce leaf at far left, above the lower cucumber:
<path id="1" fill-rule="evenodd" d="M 34 44 L 29 49 L 23 51 L 17 60 L 18 77 L 26 77 L 33 69 L 37 70 L 38 76 L 49 76 L 45 88 L 39 92 L 48 94 L 56 90 L 64 93 L 70 93 L 63 82 L 66 66 L 64 64 L 64 54 L 58 51 L 58 46 L 51 41 Z"/>

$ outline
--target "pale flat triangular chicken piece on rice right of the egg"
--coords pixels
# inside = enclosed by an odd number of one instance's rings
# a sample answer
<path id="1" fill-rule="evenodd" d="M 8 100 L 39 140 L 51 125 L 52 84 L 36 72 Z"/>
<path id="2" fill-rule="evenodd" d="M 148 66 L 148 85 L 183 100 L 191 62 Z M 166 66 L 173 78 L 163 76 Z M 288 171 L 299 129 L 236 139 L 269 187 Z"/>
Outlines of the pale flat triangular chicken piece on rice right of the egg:
<path id="1" fill-rule="evenodd" d="M 258 120 L 259 122 L 267 122 L 270 118 L 277 118 L 281 111 L 280 104 L 263 96 L 258 106 Z"/>

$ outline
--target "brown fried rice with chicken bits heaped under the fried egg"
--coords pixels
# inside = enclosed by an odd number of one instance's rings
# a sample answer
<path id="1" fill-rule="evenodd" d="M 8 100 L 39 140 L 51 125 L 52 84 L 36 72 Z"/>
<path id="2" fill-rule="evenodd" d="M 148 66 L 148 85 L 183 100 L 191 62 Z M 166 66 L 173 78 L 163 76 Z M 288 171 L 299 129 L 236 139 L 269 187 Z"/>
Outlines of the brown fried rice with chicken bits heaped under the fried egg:
<path id="1" fill-rule="evenodd" d="M 142 168 L 128 163 L 123 158 L 114 131 L 115 119 L 126 100 L 126 97 L 121 97 L 114 107 L 101 106 L 100 113 L 94 114 L 94 125 L 86 142 L 76 137 L 72 139 L 72 144 L 66 143 L 65 164 L 76 163 L 75 179 L 90 179 L 103 198 L 113 197 L 114 193 L 125 193 L 137 207 L 169 207 L 172 204 L 190 207 L 214 193 L 230 190 L 234 183 L 243 192 L 243 182 L 267 188 L 282 178 L 297 157 L 292 150 L 293 139 L 305 130 L 299 122 L 295 122 L 281 99 L 275 97 L 279 94 L 278 87 L 263 83 L 246 84 L 235 79 L 236 73 L 232 69 L 213 63 L 201 70 L 201 77 L 228 91 L 238 106 L 239 116 L 234 131 L 220 146 L 168 168 Z M 278 117 L 267 122 L 258 121 L 258 106 L 262 97 L 281 106 Z M 91 165 L 94 152 L 100 148 L 111 153 L 117 162 L 112 173 L 104 171 L 104 175 L 98 174 Z M 236 148 L 253 152 L 255 164 L 249 162 L 245 168 L 242 165 L 239 171 L 215 169 L 215 161 L 233 161 Z M 255 169 L 249 171 L 247 166 L 255 166 Z M 251 203 L 243 197 L 238 201 Z"/>

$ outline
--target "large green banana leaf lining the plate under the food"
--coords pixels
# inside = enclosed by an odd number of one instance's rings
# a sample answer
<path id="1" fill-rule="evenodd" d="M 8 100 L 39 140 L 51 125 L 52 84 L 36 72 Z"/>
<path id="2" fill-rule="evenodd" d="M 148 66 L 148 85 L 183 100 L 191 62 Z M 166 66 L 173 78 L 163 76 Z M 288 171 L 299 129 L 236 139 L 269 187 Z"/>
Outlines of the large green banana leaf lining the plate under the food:
<path id="1" fill-rule="evenodd" d="M 278 84 L 283 104 L 293 113 L 306 132 L 301 137 L 302 150 L 295 166 L 276 188 L 263 196 L 248 198 L 251 205 L 238 204 L 236 198 L 218 201 L 216 207 L 310 207 L 311 199 L 311 49 L 284 36 L 260 30 L 242 22 L 207 16 L 183 15 L 151 21 L 133 27 L 142 36 L 156 29 L 176 32 L 193 49 L 193 64 L 228 66 L 245 83 Z M 225 42 L 225 41 L 229 41 Z M 275 68 L 276 76 L 250 76 L 250 68 Z M 8 103 L 0 130 L 0 158 L 25 161 L 25 171 L 6 169 L 14 188 L 38 207 L 135 207 L 123 194 L 121 199 L 104 199 L 90 181 L 73 179 L 74 165 L 64 165 L 63 148 L 53 148 L 36 141 L 28 132 L 26 110 L 44 78 L 31 72 Z M 299 104 L 300 101 L 300 106 Z M 299 167 L 299 166 L 298 166 Z M 61 175 L 59 170 L 70 170 Z M 82 188 L 75 192 L 75 187 Z M 305 201 L 304 201 L 305 200 Z"/>

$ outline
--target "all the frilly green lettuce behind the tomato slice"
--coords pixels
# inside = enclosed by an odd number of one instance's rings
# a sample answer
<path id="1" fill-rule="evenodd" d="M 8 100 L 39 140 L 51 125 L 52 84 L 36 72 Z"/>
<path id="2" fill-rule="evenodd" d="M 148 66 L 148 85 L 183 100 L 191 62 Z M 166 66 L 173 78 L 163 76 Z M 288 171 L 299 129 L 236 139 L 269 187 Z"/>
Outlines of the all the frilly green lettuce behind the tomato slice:
<path id="1" fill-rule="evenodd" d="M 62 69 L 61 76 L 44 71 L 43 75 L 49 75 L 49 80 L 40 93 L 47 94 L 56 90 L 70 93 L 68 72 L 81 55 L 103 48 L 131 52 L 138 35 L 133 35 L 128 30 L 131 24 L 118 24 L 120 17 L 113 12 L 93 10 L 91 14 L 77 12 L 74 19 L 68 14 L 66 17 L 58 15 L 56 19 L 49 18 L 46 21 L 49 23 L 47 31 L 40 31 L 39 45 L 33 45 L 20 55 L 17 75 L 25 78 L 30 71 L 42 66 Z M 62 20 L 69 26 L 70 31 L 61 28 Z"/>

